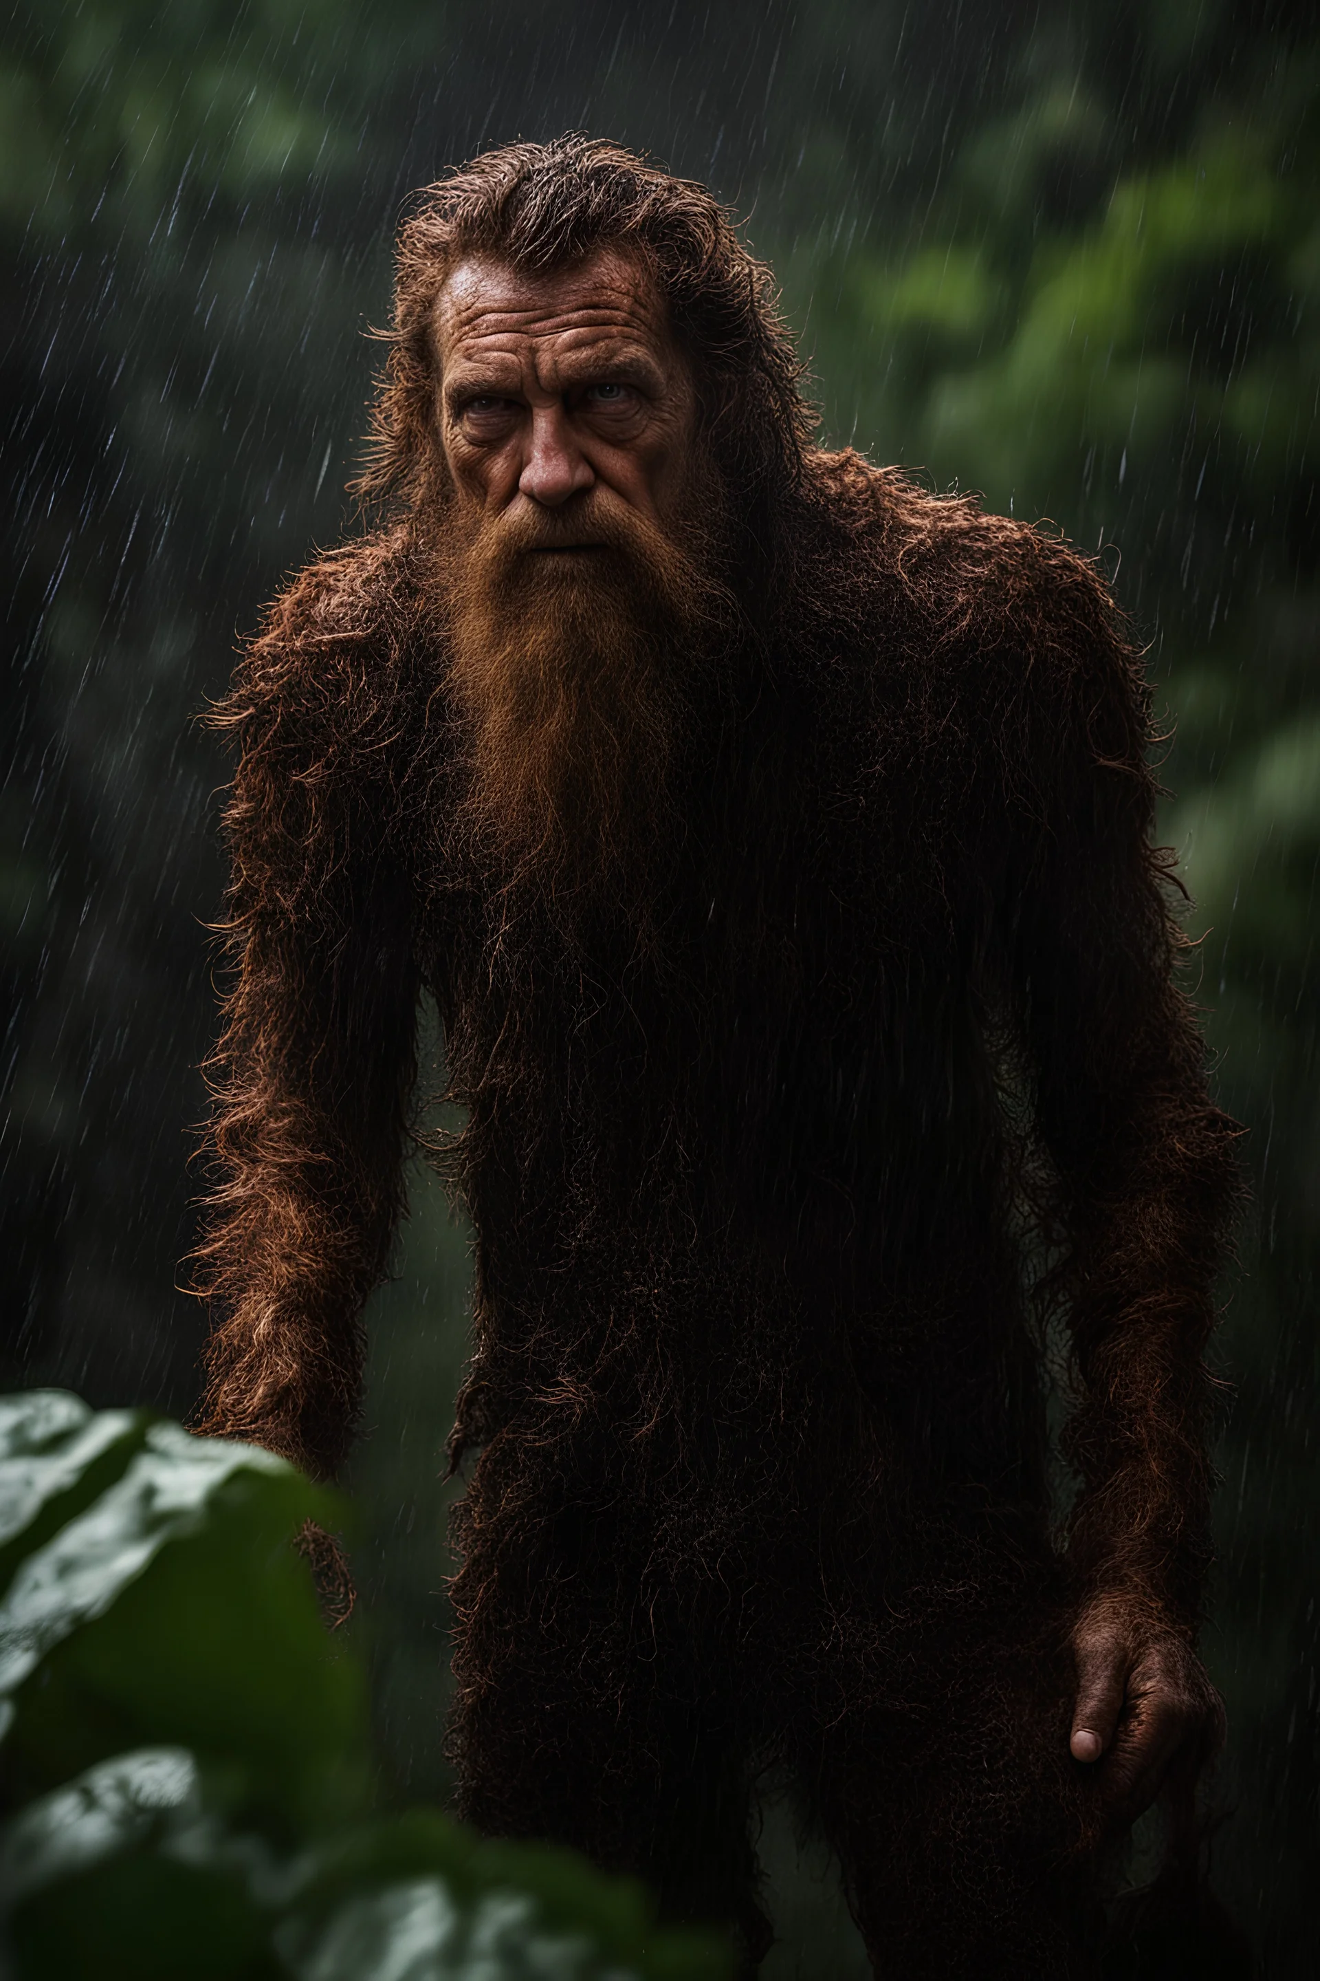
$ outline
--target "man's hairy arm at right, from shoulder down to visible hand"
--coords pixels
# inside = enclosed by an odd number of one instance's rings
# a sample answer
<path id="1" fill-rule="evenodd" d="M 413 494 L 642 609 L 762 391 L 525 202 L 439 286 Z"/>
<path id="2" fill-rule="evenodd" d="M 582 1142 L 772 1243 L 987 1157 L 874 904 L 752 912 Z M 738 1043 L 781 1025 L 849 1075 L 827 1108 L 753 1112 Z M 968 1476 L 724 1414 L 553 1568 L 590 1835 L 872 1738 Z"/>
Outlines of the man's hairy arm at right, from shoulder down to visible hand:
<path id="1" fill-rule="evenodd" d="M 1209 1561 L 1213 1280 L 1239 1193 L 1152 848 L 1148 691 L 1094 571 L 1059 545 L 1015 602 L 1029 672 L 1003 761 L 1021 820 L 1005 915 L 1055 1171 L 1081 1492 L 1073 1753 L 1126 1819 L 1215 1702 L 1191 1654 Z M 1023 749 L 1025 745 L 1025 749 Z"/>

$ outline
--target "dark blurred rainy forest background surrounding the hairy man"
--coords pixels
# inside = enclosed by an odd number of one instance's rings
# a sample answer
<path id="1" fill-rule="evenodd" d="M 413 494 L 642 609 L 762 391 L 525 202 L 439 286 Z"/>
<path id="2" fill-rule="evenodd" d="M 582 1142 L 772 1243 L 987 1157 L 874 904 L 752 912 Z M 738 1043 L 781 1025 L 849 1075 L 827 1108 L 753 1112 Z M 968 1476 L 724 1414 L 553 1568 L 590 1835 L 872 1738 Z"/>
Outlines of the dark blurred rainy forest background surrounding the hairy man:
<path id="1" fill-rule="evenodd" d="M 1318 85 L 1306 10 L 1267 0 L 83 0 L 0 30 L 0 1381 L 190 1408 L 226 775 L 196 717 L 346 523 L 402 198 L 515 135 L 651 149 L 748 216 L 829 438 L 1053 517 L 1150 642 L 1251 1127 L 1207 1656 L 1217 1874 L 1267 1975 L 1312 1971 L 1320 1862 Z M 350 1480 L 354 1628 L 414 1795 L 445 1787 L 465 1300 L 420 1169 Z M 766 1856 L 776 1971 L 851 1973 L 774 1811 Z"/>

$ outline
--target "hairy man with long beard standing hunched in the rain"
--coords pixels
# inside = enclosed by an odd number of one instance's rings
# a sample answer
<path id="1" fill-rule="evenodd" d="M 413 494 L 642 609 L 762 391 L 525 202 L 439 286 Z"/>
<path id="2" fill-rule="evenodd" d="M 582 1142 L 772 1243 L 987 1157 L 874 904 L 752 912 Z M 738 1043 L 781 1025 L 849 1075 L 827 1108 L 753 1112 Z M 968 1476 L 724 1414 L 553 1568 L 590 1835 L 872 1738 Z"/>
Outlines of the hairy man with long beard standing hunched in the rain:
<path id="1" fill-rule="evenodd" d="M 718 206 L 582 139 L 420 200 L 362 487 L 224 713 L 208 1426 L 340 1462 L 427 987 L 463 1811 L 754 1965 L 778 1773 L 879 1971 L 1083 1975 L 1106 1838 L 1215 1723 L 1235 1191 L 1104 584 L 821 452 Z"/>

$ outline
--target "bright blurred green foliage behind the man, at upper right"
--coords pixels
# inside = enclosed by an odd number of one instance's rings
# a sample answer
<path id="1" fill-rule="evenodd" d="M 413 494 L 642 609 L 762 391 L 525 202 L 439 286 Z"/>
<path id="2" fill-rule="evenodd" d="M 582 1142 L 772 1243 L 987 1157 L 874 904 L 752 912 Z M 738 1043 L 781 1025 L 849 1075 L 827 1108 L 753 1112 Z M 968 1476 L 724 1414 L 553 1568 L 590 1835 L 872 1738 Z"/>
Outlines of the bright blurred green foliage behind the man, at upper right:
<path id="1" fill-rule="evenodd" d="M 883 454 L 1083 539 L 1112 527 L 1128 479 L 1154 515 L 1185 501 L 1187 471 L 1211 507 L 1314 471 L 1312 97 L 1302 65 L 1215 107 L 1185 151 L 1106 176 L 1069 226 L 1021 212 L 1031 166 L 1057 164 L 1023 133 L 1053 95 L 976 133 L 958 200 L 918 244 L 867 242 L 835 271 L 817 361 L 835 424 L 855 394 Z M 1096 115 L 1075 91 L 1055 139 L 1079 143 Z"/>

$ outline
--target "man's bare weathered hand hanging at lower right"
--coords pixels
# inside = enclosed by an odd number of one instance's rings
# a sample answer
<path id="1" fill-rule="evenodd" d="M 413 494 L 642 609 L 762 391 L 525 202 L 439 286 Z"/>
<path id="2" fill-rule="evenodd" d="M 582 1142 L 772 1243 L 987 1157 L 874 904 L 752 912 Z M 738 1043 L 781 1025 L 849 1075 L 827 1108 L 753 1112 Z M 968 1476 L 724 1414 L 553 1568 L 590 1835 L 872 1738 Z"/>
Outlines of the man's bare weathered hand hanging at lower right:
<path id="1" fill-rule="evenodd" d="M 1223 1706 L 1183 1638 L 1120 1597 L 1083 1611 L 1073 1656 L 1073 1759 L 1096 1769 L 1106 1821 L 1128 1828 L 1170 1769 L 1195 1767 L 1215 1751 Z"/>

